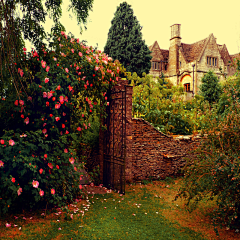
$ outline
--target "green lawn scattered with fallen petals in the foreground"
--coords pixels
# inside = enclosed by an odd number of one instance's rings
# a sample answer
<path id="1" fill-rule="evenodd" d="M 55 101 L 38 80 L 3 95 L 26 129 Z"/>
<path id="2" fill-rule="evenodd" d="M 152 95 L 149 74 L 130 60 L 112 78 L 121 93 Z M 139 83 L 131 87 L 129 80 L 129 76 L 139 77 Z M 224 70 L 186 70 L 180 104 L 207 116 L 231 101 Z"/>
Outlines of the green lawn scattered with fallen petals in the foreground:
<path id="1" fill-rule="evenodd" d="M 84 206 L 80 203 L 72 206 L 72 212 L 75 209 L 76 213 L 70 221 L 64 220 L 63 214 L 55 213 L 43 219 L 41 212 L 39 221 L 24 224 L 22 216 L 16 219 L 14 223 L 22 226 L 21 230 L 13 227 L 13 222 L 12 227 L 6 228 L 2 221 L 1 239 L 206 239 L 200 233 L 167 220 L 162 213 L 169 211 L 171 204 L 156 197 L 149 186 L 127 186 L 126 195 L 122 196 L 108 193 L 88 198 L 88 202 L 82 201 Z M 84 215 L 83 209 L 88 209 Z"/>

